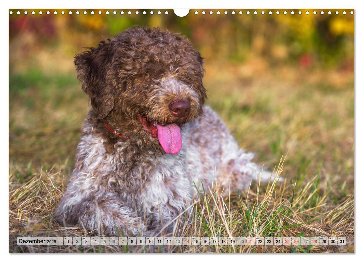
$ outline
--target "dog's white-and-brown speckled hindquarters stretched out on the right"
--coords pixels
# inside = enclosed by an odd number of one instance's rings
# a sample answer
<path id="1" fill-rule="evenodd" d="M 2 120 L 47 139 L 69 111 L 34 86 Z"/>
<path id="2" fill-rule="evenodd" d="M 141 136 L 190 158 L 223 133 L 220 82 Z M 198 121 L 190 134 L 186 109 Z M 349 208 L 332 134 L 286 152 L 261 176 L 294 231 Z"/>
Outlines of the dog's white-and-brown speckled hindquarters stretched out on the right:
<path id="1" fill-rule="evenodd" d="M 189 126 L 187 159 L 188 173 L 198 186 L 199 192 L 203 188 L 216 186 L 223 188 L 223 195 L 229 190 L 245 190 L 251 181 L 265 183 L 271 178 L 271 172 L 252 162 L 253 153 L 241 149 L 229 132 L 221 118 L 208 106 L 204 108 L 203 117 L 198 118 Z M 282 181 L 282 178 L 279 178 Z"/>

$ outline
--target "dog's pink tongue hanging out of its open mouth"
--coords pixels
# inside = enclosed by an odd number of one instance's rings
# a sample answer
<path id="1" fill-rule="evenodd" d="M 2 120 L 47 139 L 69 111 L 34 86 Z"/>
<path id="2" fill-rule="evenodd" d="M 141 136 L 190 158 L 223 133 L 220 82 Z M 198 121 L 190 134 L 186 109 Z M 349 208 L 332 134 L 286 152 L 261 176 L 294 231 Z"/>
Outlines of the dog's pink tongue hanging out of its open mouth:
<path id="1" fill-rule="evenodd" d="M 160 145 L 167 154 L 178 154 L 183 143 L 181 139 L 180 127 L 176 124 L 158 125 L 158 139 Z"/>

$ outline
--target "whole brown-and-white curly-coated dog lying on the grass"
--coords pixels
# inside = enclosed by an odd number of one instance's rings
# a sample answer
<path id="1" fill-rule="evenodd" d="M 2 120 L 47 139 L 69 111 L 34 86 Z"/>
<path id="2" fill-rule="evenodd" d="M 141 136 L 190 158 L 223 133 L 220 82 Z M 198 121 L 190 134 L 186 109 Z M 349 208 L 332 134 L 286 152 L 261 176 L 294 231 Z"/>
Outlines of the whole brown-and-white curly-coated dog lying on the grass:
<path id="1" fill-rule="evenodd" d="M 203 59 L 185 37 L 133 27 L 74 64 L 92 109 L 56 210 L 61 224 L 175 233 L 176 218 L 197 197 L 194 183 L 228 193 L 260 175 L 253 154 L 204 105 Z"/>

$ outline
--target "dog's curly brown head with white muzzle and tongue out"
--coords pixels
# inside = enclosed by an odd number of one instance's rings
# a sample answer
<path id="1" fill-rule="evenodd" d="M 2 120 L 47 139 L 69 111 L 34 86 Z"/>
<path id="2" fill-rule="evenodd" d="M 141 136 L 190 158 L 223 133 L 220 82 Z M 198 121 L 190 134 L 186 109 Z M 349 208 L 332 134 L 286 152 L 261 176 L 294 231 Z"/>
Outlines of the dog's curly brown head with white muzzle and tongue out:
<path id="1" fill-rule="evenodd" d="M 74 63 L 98 119 L 167 154 L 181 149 L 180 126 L 203 113 L 203 59 L 178 34 L 133 27 Z"/>

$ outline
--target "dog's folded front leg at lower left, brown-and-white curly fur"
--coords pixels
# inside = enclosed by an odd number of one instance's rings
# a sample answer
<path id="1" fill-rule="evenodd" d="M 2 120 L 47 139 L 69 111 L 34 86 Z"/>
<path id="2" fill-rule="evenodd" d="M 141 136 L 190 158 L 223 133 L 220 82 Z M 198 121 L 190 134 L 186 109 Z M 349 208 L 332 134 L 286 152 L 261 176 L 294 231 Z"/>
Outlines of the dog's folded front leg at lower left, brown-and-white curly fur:
<path id="1" fill-rule="evenodd" d="M 137 235 L 145 230 L 142 219 L 123 204 L 117 194 L 84 194 L 82 191 L 84 190 L 75 184 L 69 185 L 56 210 L 55 218 L 58 222 L 79 223 L 87 230 L 113 235 Z"/>

